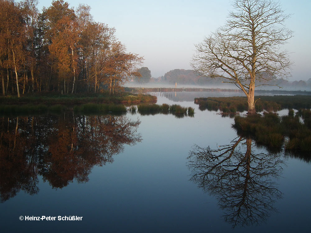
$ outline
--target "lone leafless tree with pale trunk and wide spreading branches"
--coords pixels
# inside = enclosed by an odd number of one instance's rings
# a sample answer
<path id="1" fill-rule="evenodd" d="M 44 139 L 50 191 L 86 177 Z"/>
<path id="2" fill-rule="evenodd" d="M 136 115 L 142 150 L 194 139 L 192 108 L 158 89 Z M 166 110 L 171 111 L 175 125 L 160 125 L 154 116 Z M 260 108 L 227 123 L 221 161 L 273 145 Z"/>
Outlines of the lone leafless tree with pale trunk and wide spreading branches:
<path id="1" fill-rule="evenodd" d="M 272 0 L 235 0 L 232 5 L 225 25 L 196 45 L 192 66 L 202 75 L 222 77 L 238 86 L 247 96 L 248 113 L 253 114 L 255 87 L 290 75 L 292 63 L 288 52 L 281 50 L 292 37 L 284 26 L 290 15 Z"/>

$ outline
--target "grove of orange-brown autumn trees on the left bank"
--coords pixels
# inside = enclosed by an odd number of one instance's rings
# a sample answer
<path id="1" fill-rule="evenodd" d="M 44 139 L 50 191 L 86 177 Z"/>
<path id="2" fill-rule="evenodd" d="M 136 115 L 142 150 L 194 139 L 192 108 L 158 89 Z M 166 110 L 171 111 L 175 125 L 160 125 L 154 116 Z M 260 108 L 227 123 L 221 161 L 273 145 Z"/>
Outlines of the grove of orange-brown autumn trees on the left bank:
<path id="1" fill-rule="evenodd" d="M 126 52 L 115 29 L 95 22 L 91 8 L 53 1 L 0 0 L 0 89 L 3 95 L 117 91 L 143 58 Z"/>

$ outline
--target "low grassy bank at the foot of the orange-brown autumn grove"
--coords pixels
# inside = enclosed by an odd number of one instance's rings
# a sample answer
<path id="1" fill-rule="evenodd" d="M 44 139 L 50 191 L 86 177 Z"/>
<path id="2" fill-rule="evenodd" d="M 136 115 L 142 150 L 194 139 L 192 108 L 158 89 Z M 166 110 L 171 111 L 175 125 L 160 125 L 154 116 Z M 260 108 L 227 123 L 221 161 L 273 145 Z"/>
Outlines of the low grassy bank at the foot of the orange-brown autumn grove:
<path id="1" fill-rule="evenodd" d="M 156 97 L 151 95 L 132 95 L 122 93 L 113 97 L 109 94 L 31 94 L 18 98 L 17 96 L 0 97 L 0 112 L 30 113 L 30 112 L 62 112 L 73 109 L 74 111 L 100 111 L 100 112 L 124 112 L 124 104 L 153 103 Z"/>

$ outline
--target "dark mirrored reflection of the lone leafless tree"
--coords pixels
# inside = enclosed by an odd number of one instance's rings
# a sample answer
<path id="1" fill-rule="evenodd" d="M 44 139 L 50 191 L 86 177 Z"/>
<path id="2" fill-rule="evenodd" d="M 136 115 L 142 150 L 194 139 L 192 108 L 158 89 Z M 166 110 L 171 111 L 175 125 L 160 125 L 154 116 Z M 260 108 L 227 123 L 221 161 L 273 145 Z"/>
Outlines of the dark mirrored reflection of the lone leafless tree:
<path id="1" fill-rule="evenodd" d="M 188 157 L 191 180 L 217 197 L 233 227 L 265 221 L 282 195 L 275 183 L 284 163 L 280 155 L 254 154 L 251 147 L 251 138 L 237 137 L 216 150 L 194 145 Z"/>

